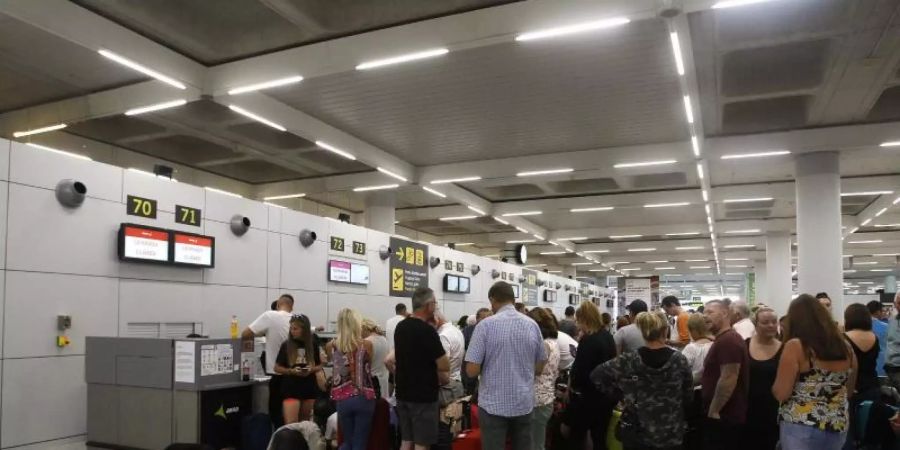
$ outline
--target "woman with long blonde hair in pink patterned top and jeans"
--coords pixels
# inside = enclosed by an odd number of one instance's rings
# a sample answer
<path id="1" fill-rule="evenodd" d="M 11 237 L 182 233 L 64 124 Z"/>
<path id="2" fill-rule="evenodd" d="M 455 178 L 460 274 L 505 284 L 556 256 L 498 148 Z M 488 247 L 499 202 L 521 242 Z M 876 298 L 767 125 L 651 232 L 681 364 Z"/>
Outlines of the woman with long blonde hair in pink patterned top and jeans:
<path id="1" fill-rule="evenodd" d="M 362 337 L 359 313 L 344 308 L 337 316 L 337 337 L 326 346 L 334 364 L 331 398 L 337 402 L 341 450 L 363 450 L 375 413 L 372 388 L 372 343 Z"/>

